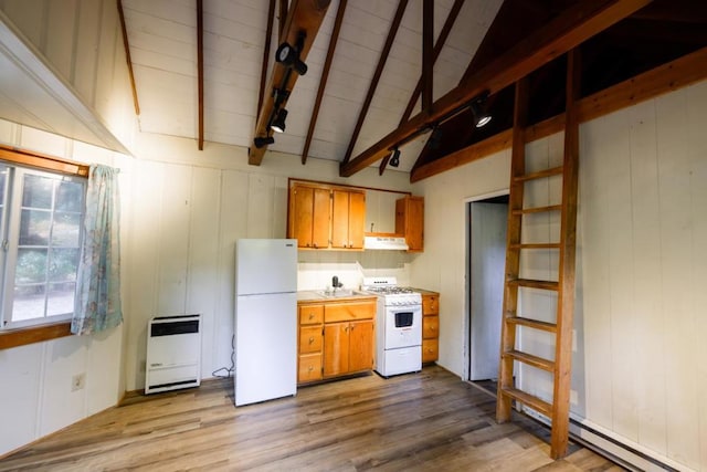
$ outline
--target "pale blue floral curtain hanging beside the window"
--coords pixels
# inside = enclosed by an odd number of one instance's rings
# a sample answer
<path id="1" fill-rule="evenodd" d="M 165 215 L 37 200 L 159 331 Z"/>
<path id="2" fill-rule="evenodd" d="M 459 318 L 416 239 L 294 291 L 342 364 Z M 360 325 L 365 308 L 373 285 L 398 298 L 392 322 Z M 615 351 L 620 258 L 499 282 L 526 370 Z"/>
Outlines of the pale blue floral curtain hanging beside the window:
<path id="1" fill-rule="evenodd" d="M 101 332 L 123 322 L 117 175 L 118 170 L 112 167 L 91 166 L 71 323 L 74 334 Z"/>

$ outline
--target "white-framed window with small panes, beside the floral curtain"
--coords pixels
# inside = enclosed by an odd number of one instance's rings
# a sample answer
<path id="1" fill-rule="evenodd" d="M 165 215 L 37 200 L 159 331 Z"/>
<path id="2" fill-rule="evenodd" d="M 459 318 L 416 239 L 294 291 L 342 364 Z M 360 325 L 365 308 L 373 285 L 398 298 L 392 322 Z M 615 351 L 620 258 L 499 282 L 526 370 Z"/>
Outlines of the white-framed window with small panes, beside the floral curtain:
<path id="1" fill-rule="evenodd" d="M 86 180 L 0 162 L 3 328 L 70 319 Z"/>

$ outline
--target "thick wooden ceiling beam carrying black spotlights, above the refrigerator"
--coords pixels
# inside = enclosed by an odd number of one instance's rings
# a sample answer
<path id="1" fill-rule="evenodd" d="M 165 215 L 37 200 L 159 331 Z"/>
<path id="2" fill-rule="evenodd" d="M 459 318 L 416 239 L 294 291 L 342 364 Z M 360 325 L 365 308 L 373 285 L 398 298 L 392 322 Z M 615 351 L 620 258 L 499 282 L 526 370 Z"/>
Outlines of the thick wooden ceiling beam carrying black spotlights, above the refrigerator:
<path id="1" fill-rule="evenodd" d="M 291 45 L 296 45 L 302 42 L 299 48 L 299 59 L 305 61 L 307 54 L 314 44 L 314 40 L 317 36 L 319 27 L 324 21 L 324 18 L 329 8 L 331 0 L 293 0 L 287 12 L 287 20 L 285 22 L 285 29 L 283 30 L 283 42 L 287 42 Z M 300 38 L 304 35 L 304 41 Z M 271 73 L 271 80 L 266 92 L 273 92 L 275 90 L 285 88 L 289 94 L 293 93 L 297 77 L 296 72 L 291 73 L 286 65 L 281 62 L 275 62 L 273 72 Z M 265 94 L 263 106 L 260 109 L 257 124 L 255 126 L 255 137 L 267 137 L 271 134 L 268 129 L 271 115 L 275 109 L 275 101 L 272 93 Z M 282 99 L 282 107 L 287 104 L 287 97 Z M 267 145 L 262 147 L 255 147 L 252 145 L 249 148 L 247 162 L 252 166 L 260 166 L 263 161 L 263 155 L 267 149 Z"/>

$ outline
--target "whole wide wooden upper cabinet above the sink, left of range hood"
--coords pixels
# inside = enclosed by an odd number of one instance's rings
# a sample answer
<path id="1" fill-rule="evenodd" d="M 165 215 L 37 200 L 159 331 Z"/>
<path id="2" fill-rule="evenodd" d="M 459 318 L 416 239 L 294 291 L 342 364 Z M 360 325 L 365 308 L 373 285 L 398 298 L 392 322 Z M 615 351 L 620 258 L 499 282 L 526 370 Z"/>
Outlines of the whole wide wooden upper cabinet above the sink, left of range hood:
<path id="1" fill-rule="evenodd" d="M 363 190 L 318 183 L 289 189 L 287 237 L 300 249 L 363 249 Z"/>

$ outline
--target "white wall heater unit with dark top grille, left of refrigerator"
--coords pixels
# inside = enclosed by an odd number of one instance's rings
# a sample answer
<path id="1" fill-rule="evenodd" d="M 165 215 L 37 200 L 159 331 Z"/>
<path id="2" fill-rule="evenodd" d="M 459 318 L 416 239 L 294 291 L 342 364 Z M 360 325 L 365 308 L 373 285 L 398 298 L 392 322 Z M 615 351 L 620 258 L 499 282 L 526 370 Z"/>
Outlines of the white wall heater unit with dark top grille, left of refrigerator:
<path id="1" fill-rule="evenodd" d="M 145 394 L 199 387 L 201 315 L 157 316 L 147 325 Z"/>

